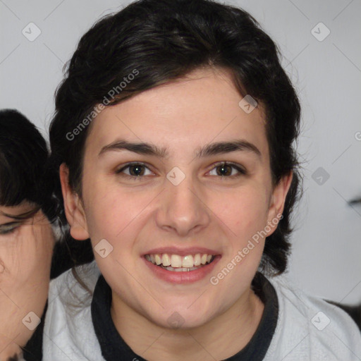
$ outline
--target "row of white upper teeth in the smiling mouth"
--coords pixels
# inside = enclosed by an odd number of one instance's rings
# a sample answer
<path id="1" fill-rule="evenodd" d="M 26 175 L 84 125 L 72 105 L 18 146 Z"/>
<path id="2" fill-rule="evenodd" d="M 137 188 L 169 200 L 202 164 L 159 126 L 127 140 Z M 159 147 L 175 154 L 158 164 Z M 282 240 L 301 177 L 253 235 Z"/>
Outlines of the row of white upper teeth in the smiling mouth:
<path id="1" fill-rule="evenodd" d="M 173 268 L 184 267 L 191 268 L 195 266 L 200 266 L 201 264 L 206 264 L 211 262 L 212 255 L 207 255 L 206 253 L 196 255 L 187 255 L 182 257 L 180 255 L 168 255 L 164 253 L 163 255 L 154 254 L 154 255 L 145 255 L 145 259 L 152 262 L 153 264 L 163 264 L 163 266 L 171 266 Z"/>

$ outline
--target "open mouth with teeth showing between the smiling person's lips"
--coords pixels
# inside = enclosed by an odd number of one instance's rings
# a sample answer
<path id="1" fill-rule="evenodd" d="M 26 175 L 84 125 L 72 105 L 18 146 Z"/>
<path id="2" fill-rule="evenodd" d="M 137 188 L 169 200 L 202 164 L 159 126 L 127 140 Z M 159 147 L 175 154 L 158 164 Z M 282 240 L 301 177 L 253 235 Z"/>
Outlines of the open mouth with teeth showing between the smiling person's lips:
<path id="1" fill-rule="evenodd" d="M 214 257 L 215 255 L 207 255 L 207 253 L 197 253 L 195 255 L 187 255 L 185 257 L 180 255 L 169 255 L 167 253 L 145 255 L 145 259 L 147 259 L 148 262 L 166 269 L 167 271 L 173 272 L 195 271 L 212 263 L 214 261 Z"/>

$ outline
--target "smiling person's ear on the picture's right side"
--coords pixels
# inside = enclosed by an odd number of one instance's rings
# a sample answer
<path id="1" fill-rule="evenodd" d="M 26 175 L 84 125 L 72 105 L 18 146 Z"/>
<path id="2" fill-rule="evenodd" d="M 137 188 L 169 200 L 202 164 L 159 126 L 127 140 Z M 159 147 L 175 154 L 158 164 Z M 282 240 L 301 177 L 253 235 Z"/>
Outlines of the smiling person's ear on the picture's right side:
<path id="1" fill-rule="evenodd" d="M 269 202 L 269 213 L 267 219 L 267 226 L 269 226 L 271 230 L 267 232 L 267 237 L 276 231 L 277 224 L 279 224 L 281 214 L 283 213 L 283 208 L 285 206 L 286 196 L 288 190 L 290 189 L 290 184 L 292 183 L 292 178 L 293 173 L 290 171 L 290 173 L 283 176 L 279 183 L 274 187 L 271 200 Z"/>

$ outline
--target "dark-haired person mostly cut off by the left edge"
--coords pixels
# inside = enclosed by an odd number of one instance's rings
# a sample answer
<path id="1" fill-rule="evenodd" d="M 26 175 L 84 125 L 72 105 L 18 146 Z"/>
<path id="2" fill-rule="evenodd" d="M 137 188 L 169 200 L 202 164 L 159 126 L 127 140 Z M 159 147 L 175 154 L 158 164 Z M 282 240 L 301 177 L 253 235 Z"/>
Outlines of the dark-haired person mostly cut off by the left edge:
<path id="1" fill-rule="evenodd" d="M 54 247 L 47 145 L 16 110 L 0 111 L 0 360 L 17 360 L 41 323 Z M 35 357 L 36 355 L 34 355 Z M 32 360 L 27 359 L 27 360 Z M 37 358 L 35 358 L 37 360 Z"/>

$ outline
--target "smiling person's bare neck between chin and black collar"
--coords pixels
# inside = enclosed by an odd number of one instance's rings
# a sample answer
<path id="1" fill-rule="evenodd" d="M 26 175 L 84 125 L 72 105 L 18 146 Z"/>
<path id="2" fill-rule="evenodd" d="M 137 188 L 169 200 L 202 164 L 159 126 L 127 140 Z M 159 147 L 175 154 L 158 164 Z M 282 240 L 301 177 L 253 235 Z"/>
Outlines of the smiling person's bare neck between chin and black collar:
<path id="1" fill-rule="evenodd" d="M 224 360 L 242 350 L 255 334 L 264 305 L 249 289 L 228 310 L 202 326 L 166 329 L 128 307 L 113 293 L 111 318 L 137 355 L 149 361 Z"/>

